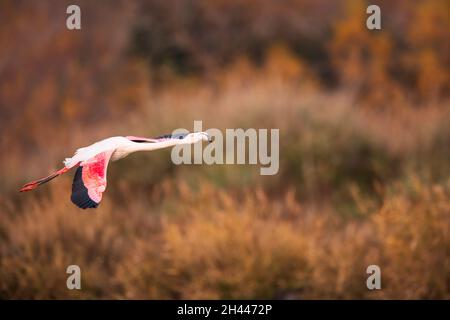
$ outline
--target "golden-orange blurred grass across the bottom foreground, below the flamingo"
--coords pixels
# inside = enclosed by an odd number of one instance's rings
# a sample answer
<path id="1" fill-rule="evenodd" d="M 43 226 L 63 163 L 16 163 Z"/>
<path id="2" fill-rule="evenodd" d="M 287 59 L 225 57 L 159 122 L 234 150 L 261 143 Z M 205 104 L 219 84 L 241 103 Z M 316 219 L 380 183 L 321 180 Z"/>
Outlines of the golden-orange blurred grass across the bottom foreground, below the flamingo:
<path id="1" fill-rule="evenodd" d="M 438 298 L 449 296 L 449 185 L 396 186 L 366 219 L 303 207 L 293 192 L 232 196 L 166 183 L 148 207 L 79 212 L 64 191 L 2 223 L 3 298 Z M 159 203 L 159 204 L 158 204 Z M 65 289 L 65 269 L 82 290 Z M 377 264 L 382 287 L 367 290 Z"/>

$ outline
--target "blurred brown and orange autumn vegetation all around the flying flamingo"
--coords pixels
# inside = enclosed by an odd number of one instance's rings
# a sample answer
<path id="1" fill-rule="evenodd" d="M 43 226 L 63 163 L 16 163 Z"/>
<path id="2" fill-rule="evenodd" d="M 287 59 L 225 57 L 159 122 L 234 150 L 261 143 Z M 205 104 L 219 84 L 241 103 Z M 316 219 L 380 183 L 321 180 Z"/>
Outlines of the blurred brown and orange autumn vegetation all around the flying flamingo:
<path id="1" fill-rule="evenodd" d="M 450 298 L 449 1 L 77 0 L 75 31 L 70 4 L 0 1 L 0 298 Z M 194 120 L 279 128 L 279 173 L 161 150 L 96 210 L 71 174 L 17 192 Z"/>

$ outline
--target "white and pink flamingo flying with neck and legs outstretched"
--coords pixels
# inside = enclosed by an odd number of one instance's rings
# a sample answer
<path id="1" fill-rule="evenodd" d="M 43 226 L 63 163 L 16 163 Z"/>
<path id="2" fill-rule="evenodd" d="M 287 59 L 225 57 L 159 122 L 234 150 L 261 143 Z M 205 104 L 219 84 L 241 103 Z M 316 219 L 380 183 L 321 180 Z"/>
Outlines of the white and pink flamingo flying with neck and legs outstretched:
<path id="1" fill-rule="evenodd" d="M 211 142 L 206 132 L 166 134 L 157 138 L 135 136 L 111 137 L 78 149 L 66 158 L 64 167 L 51 175 L 25 184 L 19 191 L 30 191 L 41 184 L 77 168 L 72 184 L 72 202 L 82 209 L 97 208 L 106 189 L 106 170 L 109 161 L 117 161 L 136 151 L 150 151 L 200 141 Z"/>

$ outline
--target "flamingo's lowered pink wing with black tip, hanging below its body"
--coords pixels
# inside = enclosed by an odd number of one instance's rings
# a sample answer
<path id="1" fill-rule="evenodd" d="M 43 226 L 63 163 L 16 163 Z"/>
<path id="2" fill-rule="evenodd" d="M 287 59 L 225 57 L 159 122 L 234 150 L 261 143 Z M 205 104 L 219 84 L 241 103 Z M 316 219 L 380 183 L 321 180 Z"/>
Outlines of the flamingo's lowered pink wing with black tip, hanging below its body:
<path id="1" fill-rule="evenodd" d="M 106 171 L 115 150 L 104 151 L 77 168 L 72 184 L 72 202 L 82 209 L 97 208 L 106 189 Z"/>

